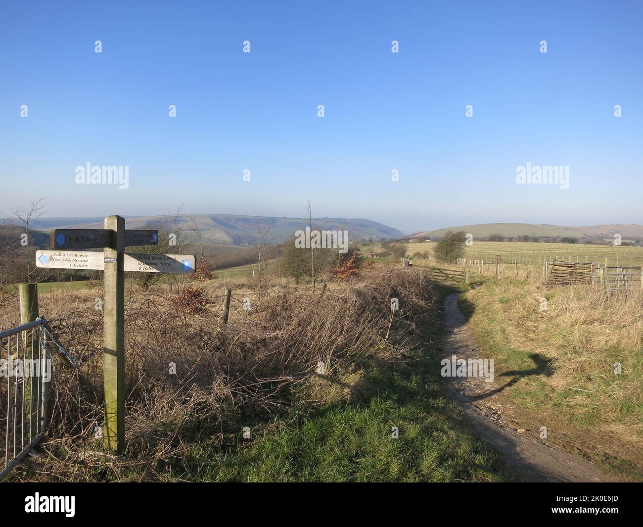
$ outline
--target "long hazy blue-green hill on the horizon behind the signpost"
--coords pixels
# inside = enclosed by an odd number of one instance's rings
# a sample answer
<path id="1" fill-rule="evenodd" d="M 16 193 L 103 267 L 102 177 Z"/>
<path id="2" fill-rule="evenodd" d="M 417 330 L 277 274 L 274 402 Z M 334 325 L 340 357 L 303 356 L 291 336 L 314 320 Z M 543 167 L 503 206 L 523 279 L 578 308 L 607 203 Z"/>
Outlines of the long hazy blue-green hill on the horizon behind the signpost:
<path id="1" fill-rule="evenodd" d="M 201 230 L 203 241 L 225 245 L 245 245 L 257 241 L 257 221 L 260 221 L 262 231 L 270 228 L 267 240 L 271 243 L 281 243 L 296 230 L 304 229 L 308 220 L 301 217 L 258 217 L 237 216 L 233 214 L 183 214 L 177 218 L 181 230 L 193 230 L 194 226 Z M 125 217 L 125 227 L 140 228 L 145 225 L 168 225 L 167 216 Z M 369 238 L 386 239 L 403 236 L 396 228 L 365 218 L 344 219 L 337 217 L 320 217 L 312 220 L 313 228 L 349 231 L 351 241 Z M 102 228 L 100 217 L 65 217 L 39 218 L 33 221 L 32 227 L 38 230 L 51 228 Z"/>

